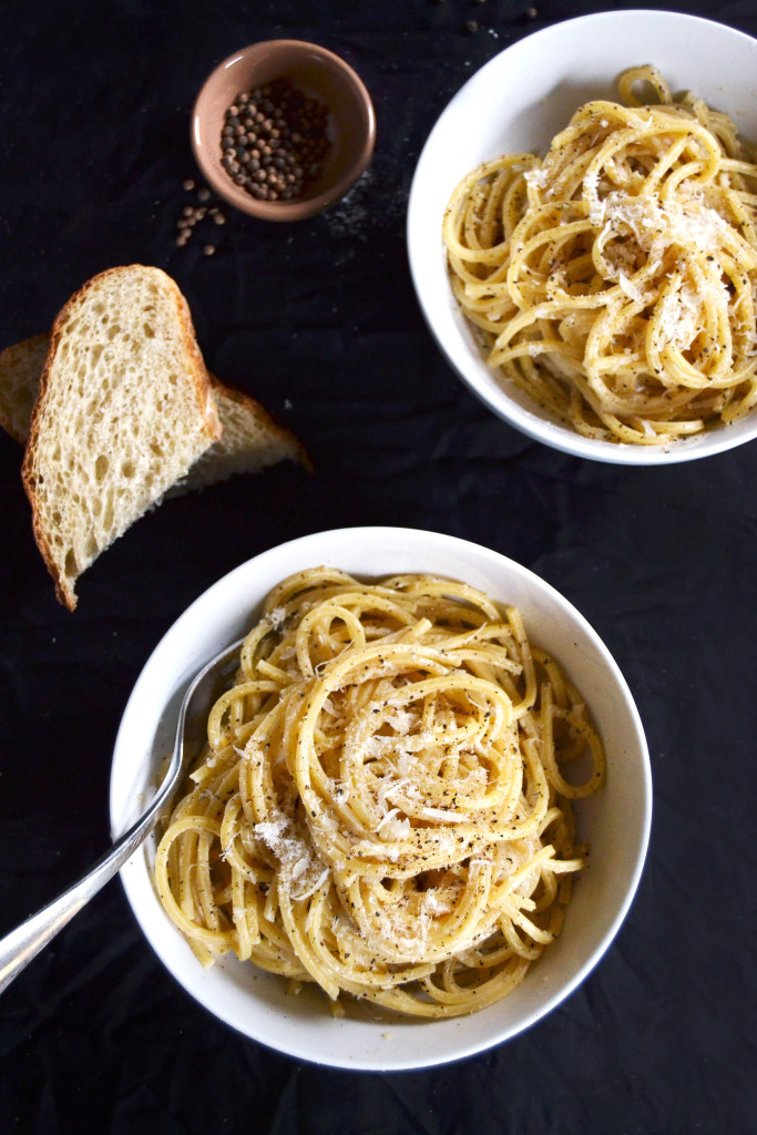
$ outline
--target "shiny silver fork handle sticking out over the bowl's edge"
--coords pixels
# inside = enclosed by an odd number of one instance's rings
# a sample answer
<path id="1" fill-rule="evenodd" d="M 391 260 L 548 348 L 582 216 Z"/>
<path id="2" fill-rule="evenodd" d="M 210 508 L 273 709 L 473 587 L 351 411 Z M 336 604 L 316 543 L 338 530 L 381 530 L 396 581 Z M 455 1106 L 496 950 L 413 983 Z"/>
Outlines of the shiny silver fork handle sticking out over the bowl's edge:
<path id="1" fill-rule="evenodd" d="M 155 824 L 158 808 L 153 807 L 124 833 L 112 847 L 98 859 L 85 875 L 64 891 L 61 896 L 31 915 L 16 930 L 0 939 L 0 993 L 24 969 L 40 950 L 86 906 L 91 898 L 116 875 L 127 859 L 134 855 Z"/>

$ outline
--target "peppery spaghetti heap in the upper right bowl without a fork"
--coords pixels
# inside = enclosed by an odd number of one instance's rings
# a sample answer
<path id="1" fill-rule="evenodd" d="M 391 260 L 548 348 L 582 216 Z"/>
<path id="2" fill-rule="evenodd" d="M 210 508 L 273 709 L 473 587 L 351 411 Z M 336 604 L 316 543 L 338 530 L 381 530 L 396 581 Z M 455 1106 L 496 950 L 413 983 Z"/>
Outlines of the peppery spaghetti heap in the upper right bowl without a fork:
<path id="1" fill-rule="evenodd" d="M 757 166 L 655 68 L 619 90 L 625 104 L 581 107 L 544 160 L 470 173 L 443 232 L 503 384 L 587 437 L 659 445 L 757 402 Z"/>

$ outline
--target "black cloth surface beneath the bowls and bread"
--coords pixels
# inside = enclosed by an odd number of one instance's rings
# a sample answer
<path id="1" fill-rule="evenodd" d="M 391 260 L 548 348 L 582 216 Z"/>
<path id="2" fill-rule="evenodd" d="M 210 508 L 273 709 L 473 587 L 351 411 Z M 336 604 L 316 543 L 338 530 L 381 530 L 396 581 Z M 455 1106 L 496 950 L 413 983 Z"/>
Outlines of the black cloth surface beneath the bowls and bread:
<path id="1" fill-rule="evenodd" d="M 0 932 L 107 846 L 113 739 L 162 633 L 242 561 L 321 529 L 437 529 L 555 585 L 623 670 L 655 783 L 646 872 L 598 968 L 528 1033 L 428 1071 L 333 1071 L 235 1034 L 163 970 L 110 883 L 0 1000 L 3 1135 L 755 1130 L 757 446 L 633 469 L 530 442 L 452 373 L 407 271 L 410 182 L 448 99 L 516 39 L 612 7 L 536 3 L 0 7 L 0 347 L 48 329 L 94 272 L 158 264 L 209 368 L 316 465 L 167 502 L 85 573 L 70 615 L 32 537 L 20 449 L 0 437 Z M 680 10 L 757 35 L 749 0 Z M 373 166 L 319 218 L 229 212 L 177 247 L 195 92 L 229 52 L 277 36 L 359 70 Z"/>

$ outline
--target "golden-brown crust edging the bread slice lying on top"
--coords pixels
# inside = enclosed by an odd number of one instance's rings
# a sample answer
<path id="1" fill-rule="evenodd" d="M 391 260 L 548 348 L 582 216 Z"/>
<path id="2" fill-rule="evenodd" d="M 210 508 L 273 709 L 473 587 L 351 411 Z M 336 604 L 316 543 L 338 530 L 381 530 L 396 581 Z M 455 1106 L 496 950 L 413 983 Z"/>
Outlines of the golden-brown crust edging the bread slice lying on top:
<path id="1" fill-rule="evenodd" d="M 96 276 L 89 279 L 77 292 L 74 293 L 56 317 L 52 326 L 50 346 L 48 348 L 44 367 L 42 368 L 42 373 L 40 376 L 40 390 L 32 411 L 28 440 L 26 443 L 24 461 L 22 464 L 22 481 L 32 506 L 32 530 L 34 532 L 34 539 L 36 540 L 42 558 L 54 582 L 56 595 L 58 596 L 60 603 L 69 611 L 74 611 L 76 608 L 76 594 L 67 577 L 65 577 L 59 570 L 59 565 L 49 539 L 37 494 L 37 457 L 41 431 L 48 409 L 51 375 L 54 371 L 58 347 L 70 316 L 82 305 L 82 303 L 86 302 L 90 293 L 94 292 L 103 279 L 129 271 L 148 272 L 150 275 L 159 274 L 161 285 L 163 287 L 168 285 L 168 291 L 176 304 L 176 314 L 182 329 L 185 347 L 192 362 L 191 375 L 188 377 L 195 390 L 197 406 L 205 421 L 205 428 L 209 437 L 208 444 L 211 445 L 212 442 L 217 440 L 221 435 L 221 423 L 218 418 L 212 395 L 210 377 L 205 369 L 200 347 L 196 343 L 190 306 L 178 285 L 171 279 L 170 276 L 163 272 L 160 268 L 144 264 L 128 264 L 116 268 L 107 268 L 104 271 L 98 272 Z"/>

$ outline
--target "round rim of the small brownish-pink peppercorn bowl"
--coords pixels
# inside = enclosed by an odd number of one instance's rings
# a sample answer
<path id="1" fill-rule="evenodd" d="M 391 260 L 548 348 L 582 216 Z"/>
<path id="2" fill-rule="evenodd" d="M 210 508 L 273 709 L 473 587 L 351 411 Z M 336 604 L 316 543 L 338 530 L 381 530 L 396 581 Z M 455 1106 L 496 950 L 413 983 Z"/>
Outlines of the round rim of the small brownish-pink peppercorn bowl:
<path id="1" fill-rule="evenodd" d="M 314 52 L 320 59 L 326 61 L 333 70 L 340 72 L 348 79 L 356 95 L 355 103 L 360 104 L 363 109 L 364 133 L 362 149 L 359 153 L 356 153 L 355 159 L 351 162 L 350 168 L 345 170 L 342 177 L 339 177 L 334 185 L 329 186 L 329 188 L 322 190 L 314 196 L 301 197 L 297 201 L 256 201 L 254 197 L 251 197 L 250 194 L 245 193 L 244 190 L 236 186 L 229 177 L 225 175 L 221 176 L 215 165 L 205 159 L 205 149 L 201 137 L 201 111 L 203 102 L 207 100 L 218 76 L 222 72 L 227 70 L 236 62 L 247 60 L 251 56 L 259 54 L 262 59 L 269 52 L 283 49 L 291 49 L 301 53 L 303 57 Z M 335 111 L 331 110 L 331 114 L 335 114 Z M 244 212 L 250 217 L 256 217 L 261 220 L 304 220 L 309 217 L 314 217 L 317 213 L 322 212 L 329 205 L 335 204 L 344 197 L 370 166 L 376 148 L 376 109 L 373 107 L 370 92 L 358 72 L 346 61 L 346 59 L 336 54 L 335 51 L 323 48 L 319 43 L 311 43 L 308 40 L 258 40 L 255 43 L 250 43 L 246 47 L 241 48 L 238 51 L 233 51 L 226 57 L 226 59 L 222 59 L 216 67 L 213 67 L 207 76 L 200 87 L 200 91 L 197 92 L 192 108 L 190 138 L 194 159 L 200 167 L 203 177 L 216 191 L 216 193 L 218 193 L 219 196 L 221 196 L 235 209 L 238 209 L 241 212 Z"/>

